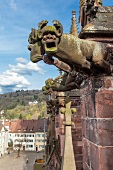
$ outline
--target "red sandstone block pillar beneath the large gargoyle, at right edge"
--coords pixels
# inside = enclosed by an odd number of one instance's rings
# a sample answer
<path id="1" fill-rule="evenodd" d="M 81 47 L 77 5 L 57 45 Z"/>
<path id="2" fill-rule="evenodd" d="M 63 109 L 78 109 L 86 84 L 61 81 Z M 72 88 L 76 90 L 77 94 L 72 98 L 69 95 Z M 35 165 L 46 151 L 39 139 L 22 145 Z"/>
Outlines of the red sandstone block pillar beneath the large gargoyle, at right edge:
<path id="1" fill-rule="evenodd" d="M 83 169 L 113 169 L 113 77 L 87 80 L 81 89 Z"/>

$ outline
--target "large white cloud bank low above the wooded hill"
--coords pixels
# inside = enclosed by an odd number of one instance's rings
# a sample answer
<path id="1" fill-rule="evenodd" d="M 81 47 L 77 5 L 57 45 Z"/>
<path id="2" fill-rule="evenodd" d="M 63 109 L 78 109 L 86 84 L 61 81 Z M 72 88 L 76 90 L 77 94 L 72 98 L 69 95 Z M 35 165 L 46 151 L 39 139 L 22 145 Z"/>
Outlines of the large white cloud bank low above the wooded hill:
<path id="1" fill-rule="evenodd" d="M 0 74 L 0 93 L 7 93 L 20 89 L 28 89 L 31 83 L 25 75 L 32 75 L 33 72 L 44 74 L 41 65 L 27 62 L 25 58 L 16 58 L 16 65 L 9 65 L 9 69 Z"/>

